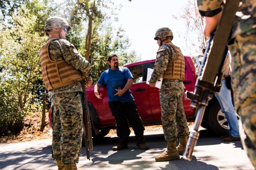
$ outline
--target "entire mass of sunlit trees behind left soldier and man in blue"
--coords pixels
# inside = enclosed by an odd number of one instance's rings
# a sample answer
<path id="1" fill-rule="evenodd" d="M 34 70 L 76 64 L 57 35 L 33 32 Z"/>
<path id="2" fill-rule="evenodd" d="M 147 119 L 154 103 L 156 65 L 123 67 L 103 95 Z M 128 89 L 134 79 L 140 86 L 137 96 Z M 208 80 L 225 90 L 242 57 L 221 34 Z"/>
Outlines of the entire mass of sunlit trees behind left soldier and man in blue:
<path id="1" fill-rule="evenodd" d="M 41 95 L 46 90 L 38 53 L 47 39 L 44 22 L 49 16 L 71 20 L 67 40 L 84 56 L 87 21 L 93 17 L 89 62 L 94 82 L 108 69 L 107 57 L 111 53 L 118 55 L 120 66 L 140 60 L 135 51 L 128 52 L 125 31 L 112 28 L 115 14 L 111 5 L 111 0 L 66 0 L 61 4 L 51 0 L 0 1 L 0 137 L 18 133 L 26 114 L 42 110 Z"/>

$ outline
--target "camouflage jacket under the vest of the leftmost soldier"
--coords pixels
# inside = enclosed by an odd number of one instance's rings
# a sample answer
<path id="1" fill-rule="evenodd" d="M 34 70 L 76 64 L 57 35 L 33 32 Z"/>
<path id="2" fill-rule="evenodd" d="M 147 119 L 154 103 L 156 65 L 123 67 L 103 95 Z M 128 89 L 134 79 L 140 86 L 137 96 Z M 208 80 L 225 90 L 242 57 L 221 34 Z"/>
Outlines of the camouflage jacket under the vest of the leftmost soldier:
<path id="1" fill-rule="evenodd" d="M 51 38 L 49 38 L 51 39 Z M 49 40 L 47 39 L 47 40 Z M 46 40 L 46 41 L 47 41 Z M 82 73 L 82 78 L 91 79 L 91 66 L 89 62 L 76 50 L 73 44 L 65 39 L 53 40 L 49 45 L 50 59 L 53 61 L 65 60 L 69 65 Z M 50 90 L 49 96 L 52 98 L 55 94 L 83 91 L 80 82 L 71 85 Z"/>

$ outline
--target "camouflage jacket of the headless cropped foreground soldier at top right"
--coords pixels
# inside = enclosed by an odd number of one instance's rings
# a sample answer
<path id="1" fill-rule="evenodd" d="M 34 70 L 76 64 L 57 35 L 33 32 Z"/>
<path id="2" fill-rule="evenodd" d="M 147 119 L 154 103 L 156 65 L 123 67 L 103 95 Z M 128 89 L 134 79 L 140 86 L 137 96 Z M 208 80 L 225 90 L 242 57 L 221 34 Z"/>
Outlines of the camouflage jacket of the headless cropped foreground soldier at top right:
<path id="1" fill-rule="evenodd" d="M 197 5 L 201 15 L 211 17 L 222 11 L 223 0 L 197 0 Z M 252 29 L 256 28 L 256 1 L 241 0 L 236 16 L 232 37 L 253 31 Z"/>

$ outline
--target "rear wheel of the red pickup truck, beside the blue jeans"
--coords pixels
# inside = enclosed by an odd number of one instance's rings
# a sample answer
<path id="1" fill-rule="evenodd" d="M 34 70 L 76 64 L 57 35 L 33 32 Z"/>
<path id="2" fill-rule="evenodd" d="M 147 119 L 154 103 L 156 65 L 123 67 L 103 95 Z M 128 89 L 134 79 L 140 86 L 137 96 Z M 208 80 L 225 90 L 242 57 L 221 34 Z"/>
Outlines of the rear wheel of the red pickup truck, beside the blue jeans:
<path id="1" fill-rule="evenodd" d="M 219 102 L 215 102 L 208 113 L 208 125 L 212 131 L 219 136 L 224 136 L 229 133 L 229 123 L 225 114 L 221 111 Z"/>

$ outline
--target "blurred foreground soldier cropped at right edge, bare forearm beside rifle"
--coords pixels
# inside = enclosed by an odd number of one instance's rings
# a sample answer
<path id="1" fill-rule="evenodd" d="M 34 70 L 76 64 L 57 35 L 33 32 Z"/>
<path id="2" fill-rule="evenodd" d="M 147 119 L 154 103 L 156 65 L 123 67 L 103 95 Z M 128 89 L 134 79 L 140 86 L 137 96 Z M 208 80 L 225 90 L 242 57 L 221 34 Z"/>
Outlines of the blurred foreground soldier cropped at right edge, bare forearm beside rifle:
<path id="1" fill-rule="evenodd" d="M 197 0 L 206 16 L 204 34 L 210 36 L 222 15 L 222 0 Z M 241 0 L 236 13 L 229 50 L 232 55 L 234 104 L 241 117 L 240 137 L 256 168 L 256 0 Z M 242 135 L 245 134 L 245 135 Z"/>

